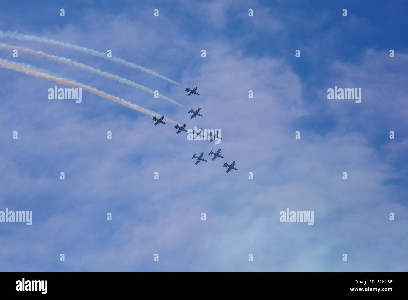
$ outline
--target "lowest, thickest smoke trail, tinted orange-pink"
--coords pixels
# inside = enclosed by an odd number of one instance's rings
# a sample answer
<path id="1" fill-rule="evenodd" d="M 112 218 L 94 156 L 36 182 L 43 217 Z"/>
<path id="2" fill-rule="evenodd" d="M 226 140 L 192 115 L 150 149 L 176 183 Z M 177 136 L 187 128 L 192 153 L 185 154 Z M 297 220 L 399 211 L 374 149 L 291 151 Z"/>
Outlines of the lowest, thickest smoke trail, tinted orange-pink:
<path id="1" fill-rule="evenodd" d="M 66 84 L 66 85 L 69 85 L 71 87 L 76 87 L 76 88 L 79 88 L 79 89 L 83 89 L 84 91 L 89 91 L 90 93 L 93 93 L 95 95 L 98 95 L 98 96 L 104 97 L 106 99 L 118 102 L 118 103 L 120 103 L 120 104 L 122 104 L 124 106 L 127 106 L 127 107 L 130 107 L 131 109 L 134 109 L 135 111 L 139 111 L 141 113 L 146 113 L 146 115 L 149 115 L 149 116 L 152 116 L 152 117 L 153 116 L 157 116 L 157 117 L 162 116 L 162 115 L 160 115 L 158 113 L 155 113 L 154 111 L 150 111 L 149 109 L 145 109 L 144 107 L 133 104 L 133 103 L 127 101 L 127 100 L 123 100 L 123 99 L 120 99 L 118 97 L 109 95 L 108 93 L 105 93 L 105 92 L 100 91 L 98 89 L 95 89 L 93 87 L 89 87 L 88 85 L 76 82 L 74 80 L 68 80 L 66 78 L 62 78 L 62 77 L 58 77 L 58 76 L 49 74 L 44 70 L 37 69 L 37 68 L 35 68 L 33 66 L 30 66 L 28 64 L 23 64 L 23 63 L 19 63 L 19 62 L 11 62 L 9 60 L 0 58 L 0 67 L 4 68 L 4 69 L 13 70 L 13 71 L 18 71 L 18 72 L 21 72 L 21 73 L 26 73 L 28 75 L 32 75 L 32 76 L 35 76 L 35 77 L 40 77 L 40 78 L 48 79 L 48 80 L 51 80 L 51 81 L 56 81 L 56 82 L 58 82 L 60 84 Z M 173 124 L 180 124 L 180 123 L 177 123 L 177 122 L 175 122 L 173 120 L 170 120 L 169 118 L 164 118 L 164 120 L 166 120 L 168 122 L 171 122 Z"/>

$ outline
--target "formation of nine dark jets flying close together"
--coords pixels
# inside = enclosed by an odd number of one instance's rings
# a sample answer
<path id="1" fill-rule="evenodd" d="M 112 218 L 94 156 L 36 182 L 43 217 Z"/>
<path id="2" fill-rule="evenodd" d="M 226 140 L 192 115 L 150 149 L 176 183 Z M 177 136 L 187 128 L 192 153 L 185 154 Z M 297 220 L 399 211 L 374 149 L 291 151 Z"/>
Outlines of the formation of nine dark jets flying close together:
<path id="1" fill-rule="evenodd" d="M 197 87 L 195 87 L 194 89 L 190 89 L 190 88 L 188 87 L 188 88 L 185 90 L 185 91 L 188 91 L 187 96 L 190 96 L 190 95 L 192 95 L 192 94 L 200 95 L 199 93 L 196 92 L 197 89 L 198 89 Z M 188 111 L 188 113 L 192 113 L 192 114 L 193 114 L 190 118 L 192 119 L 192 118 L 194 118 L 195 116 L 200 116 L 200 117 L 202 117 L 202 115 L 200 115 L 200 109 L 201 109 L 200 107 L 199 107 L 196 111 L 193 111 L 193 109 L 190 109 L 190 110 Z M 152 121 L 155 121 L 155 123 L 154 123 L 155 125 L 157 125 L 157 124 L 159 124 L 159 123 L 167 124 L 166 122 L 163 121 L 163 119 L 164 119 L 164 116 L 162 116 L 161 118 L 157 118 L 156 116 L 153 116 Z M 188 132 L 188 131 L 186 130 L 186 124 L 185 124 L 185 123 L 183 124 L 183 126 L 179 126 L 178 124 L 176 124 L 173 128 L 174 128 L 174 129 L 178 129 L 177 132 L 176 132 L 177 134 L 179 134 L 179 133 L 182 132 L 182 131 Z M 200 132 L 199 132 L 199 131 L 200 131 Z M 204 131 L 204 129 L 200 129 L 200 130 L 197 130 L 197 133 L 195 133 L 195 132 L 194 132 L 194 129 L 193 129 L 193 136 L 195 136 L 195 134 L 197 134 L 197 137 L 198 137 L 198 136 L 204 136 L 203 131 Z M 217 133 L 215 133 L 214 136 L 212 136 L 212 133 L 211 133 L 211 131 L 210 131 L 210 142 L 213 142 L 213 140 L 215 140 L 216 138 L 219 138 L 219 137 L 218 137 L 219 134 L 220 134 L 220 132 L 219 132 L 219 130 L 217 130 Z M 219 138 L 219 139 L 222 140 L 222 138 Z M 213 155 L 213 156 L 214 156 L 211 160 L 215 160 L 217 157 L 224 158 L 224 156 L 221 156 L 221 155 L 220 155 L 220 152 L 221 152 L 221 149 L 218 149 L 217 152 L 213 152 L 213 150 L 211 150 L 208 155 Z M 203 158 L 203 156 L 204 156 L 204 152 L 201 152 L 200 156 L 196 156 L 195 153 L 194 153 L 192 159 L 194 159 L 194 158 L 197 159 L 197 161 L 195 162 L 195 164 L 198 164 L 198 163 L 201 162 L 201 161 L 206 162 L 207 160 L 205 160 L 205 159 Z M 228 167 L 228 169 L 227 169 L 227 171 L 226 171 L 226 173 L 228 173 L 228 172 L 231 171 L 231 170 L 238 170 L 238 169 L 235 168 L 234 166 L 235 166 L 235 161 L 233 161 L 232 164 L 228 164 L 228 162 L 226 162 L 223 167 Z"/>

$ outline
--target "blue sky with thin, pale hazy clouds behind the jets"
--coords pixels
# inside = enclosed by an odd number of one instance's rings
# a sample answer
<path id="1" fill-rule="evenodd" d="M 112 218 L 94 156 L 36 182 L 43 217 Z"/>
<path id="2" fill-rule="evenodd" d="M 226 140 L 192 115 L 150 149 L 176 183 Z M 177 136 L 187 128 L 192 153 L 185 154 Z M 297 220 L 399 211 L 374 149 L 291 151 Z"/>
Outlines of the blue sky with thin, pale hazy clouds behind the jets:
<path id="1" fill-rule="evenodd" d="M 187 128 L 221 129 L 223 140 L 188 141 L 86 91 L 80 104 L 48 100 L 54 82 L 0 69 L 0 210 L 33 211 L 31 226 L 0 223 L 0 270 L 407 271 L 406 12 L 403 1 L 2 2 L 1 31 L 111 49 L 181 85 L 70 49 L 0 42 L 128 78 L 184 107 L 25 53 L 0 49 L 1 58 Z M 361 103 L 328 100 L 335 85 L 361 88 Z M 187 97 L 195 86 L 200 96 Z M 191 120 L 198 107 L 203 117 Z M 225 158 L 209 160 L 218 148 Z M 208 162 L 195 165 L 201 152 Z M 225 173 L 233 160 L 239 170 Z M 314 211 L 313 226 L 279 222 L 287 208 Z"/>

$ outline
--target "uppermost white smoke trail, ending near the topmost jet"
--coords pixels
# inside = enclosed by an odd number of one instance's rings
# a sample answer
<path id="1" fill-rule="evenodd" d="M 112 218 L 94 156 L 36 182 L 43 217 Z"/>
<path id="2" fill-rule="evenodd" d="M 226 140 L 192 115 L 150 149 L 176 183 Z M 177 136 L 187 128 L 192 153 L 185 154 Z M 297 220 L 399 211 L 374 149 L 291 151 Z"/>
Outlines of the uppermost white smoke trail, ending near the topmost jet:
<path id="1" fill-rule="evenodd" d="M 134 68 L 134 69 L 138 69 L 140 71 L 146 72 L 146 73 L 151 74 L 153 76 L 160 77 L 160 78 L 162 78 L 164 80 L 167 80 L 167 81 L 169 81 L 171 83 L 180 85 L 180 83 L 175 82 L 175 81 L 171 80 L 170 78 L 167 78 L 167 77 L 165 77 L 163 75 L 160 75 L 160 74 L 158 74 L 158 73 L 156 73 L 156 72 L 154 72 L 152 70 L 146 69 L 144 67 L 140 67 L 137 64 L 134 64 L 133 62 L 127 62 L 126 60 L 124 60 L 122 58 L 117 58 L 115 56 L 107 57 L 106 53 L 99 52 L 99 51 L 89 49 L 89 48 L 86 48 L 86 47 L 74 45 L 74 44 L 69 44 L 69 43 L 66 43 L 66 42 L 51 40 L 51 39 L 49 39 L 49 38 L 47 38 L 45 36 L 39 37 L 39 36 L 33 36 L 31 34 L 18 33 L 17 31 L 3 32 L 3 31 L 0 30 L 0 38 L 15 38 L 17 40 L 30 40 L 30 41 L 46 43 L 46 44 L 51 44 L 51 45 L 57 45 L 57 46 L 61 46 L 61 47 L 64 47 L 64 48 L 69 48 L 69 49 L 73 49 L 73 50 L 76 50 L 76 51 L 85 52 L 85 53 L 91 54 L 93 56 L 99 56 L 99 57 L 102 57 L 102 58 L 107 59 L 107 60 L 113 60 L 114 62 L 119 62 L 120 64 L 124 64 L 125 66 L 131 67 L 131 68 Z"/>

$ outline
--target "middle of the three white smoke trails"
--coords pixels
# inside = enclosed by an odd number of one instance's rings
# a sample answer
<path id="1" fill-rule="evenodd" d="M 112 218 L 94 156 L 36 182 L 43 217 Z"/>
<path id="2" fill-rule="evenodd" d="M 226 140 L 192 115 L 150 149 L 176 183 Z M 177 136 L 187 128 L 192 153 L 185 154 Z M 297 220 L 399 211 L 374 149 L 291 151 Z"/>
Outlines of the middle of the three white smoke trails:
<path id="1" fill-rule="evenodd" d="M 146 91 L 146 92 L 151 93 L 153 95 L 155 93 L 151 89 L 149 89 L 147 87 L 144 87 L 143 85 L 140 85 L 140 84 L 138 84 L 138 83 L 136 83 L 134 81 L 131 81 L 131 80 L 126 79 L 126 78 L 122 78 L 122 77 L 117 76 L 117 75 L 113 75 L 113 74 L 105 72 L 105 71 L 101 71 L 99 69 L 95 69 L 93 67 L 89 67 L 86 64 L 81 64 L 80 62 L 76 62 L 75 60 L 70 60 L 69 58 L 64 58 L 64 57 L 59 57 L 59 56 L 56 56 L 56 55 L 47 54 L 47 53 L 44 53 L 42 51 L 35 51 L 33 49 L 29 49 L 29 48 L 26 48 L 26 47 L 12 46 L 12 45 L 9 45 L 9 44 L 6 44 L 6 43 L 0 43 L 0 48 L 8 49 L 8 50 L 16 49 L 18 51 L 33 54 L 33 55 L 38 56 L 40 58 L 47 58 L 49 60 L 55 60 L 57 62 L 63 62 L 65 64 L 69 64 L 71 66 L 75 66 L 75 67 L 78 67 L 78 68 L 81 68 L 81 69 L 84 69 L 84 70 L 87 70 L 87 71 L 90 71 L 90 72 L 93 72 L 93 73 L 97 73 L 97 74 L 99 74 L 101 76 L 104 76 L 106 78 L 110 78 L 110 79 L 113 79 L 113 80 L 118 80 L 120 82 L 129 84 L 132 87 L 137 87 L 138 89 L 142 89 L 143 91 Z M 180 106 L 184 107 L 180 103 L 177 103 L 177 102 L 171 100 L 170 98 L 167 98 L 166 96 L 163 96 L 162 94 L 160 94 L 159 96 L 160 96 L 160 98 L 163 98 L 164 100 L 170 101 L 170 102 L 172 102 L 174 104 L 177 104 L 177 105 L 180 105 Z"/>

